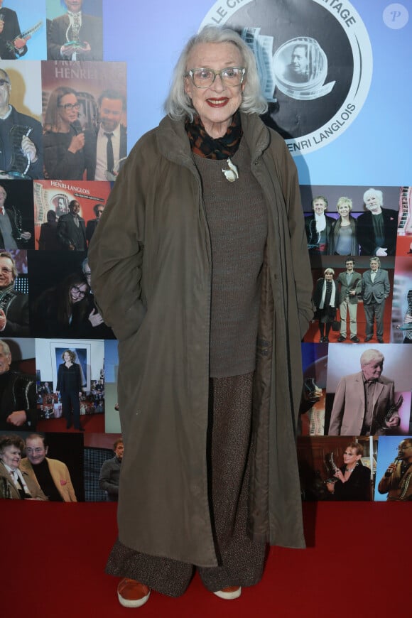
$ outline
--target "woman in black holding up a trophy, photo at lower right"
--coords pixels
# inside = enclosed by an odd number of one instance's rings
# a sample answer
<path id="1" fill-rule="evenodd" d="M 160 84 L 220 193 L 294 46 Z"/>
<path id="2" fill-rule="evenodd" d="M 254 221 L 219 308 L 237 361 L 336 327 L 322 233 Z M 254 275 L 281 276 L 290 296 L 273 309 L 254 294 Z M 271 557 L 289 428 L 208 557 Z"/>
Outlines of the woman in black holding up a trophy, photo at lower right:
<path id="1" fill-rule="evenodd" d="M 371 471 L 362 465 L 364 448 L 351 442 L 343 453 L 343 465 L 336 468 L 334 479 L 327 479 L 326 487 L 334 500 L 369 500 Z"/>

